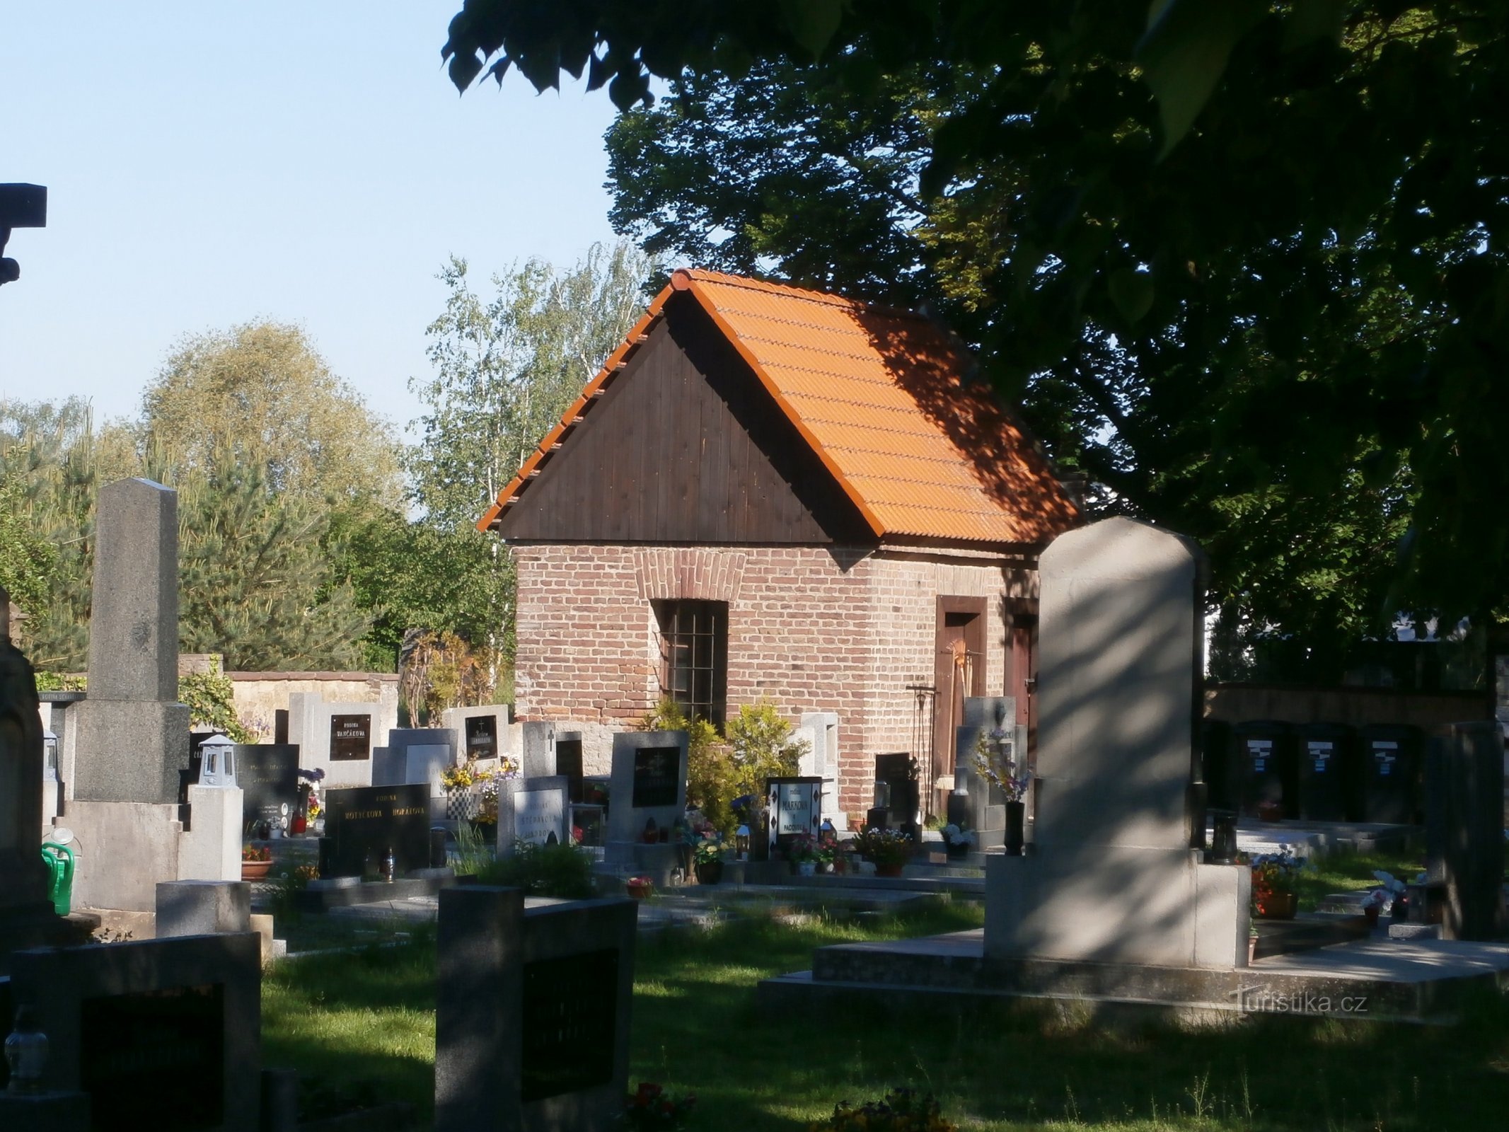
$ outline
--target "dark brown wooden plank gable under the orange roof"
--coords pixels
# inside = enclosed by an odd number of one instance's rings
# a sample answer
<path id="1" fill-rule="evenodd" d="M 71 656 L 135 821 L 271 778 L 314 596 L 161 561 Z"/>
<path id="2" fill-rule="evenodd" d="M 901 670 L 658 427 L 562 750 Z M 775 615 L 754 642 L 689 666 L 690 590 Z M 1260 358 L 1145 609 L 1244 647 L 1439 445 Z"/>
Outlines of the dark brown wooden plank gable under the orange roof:
<path id="1" fill-rule="evenodd" d="M 502 509 L 510 542 L 875 542 L 748 364 L 685 294 Z"/>

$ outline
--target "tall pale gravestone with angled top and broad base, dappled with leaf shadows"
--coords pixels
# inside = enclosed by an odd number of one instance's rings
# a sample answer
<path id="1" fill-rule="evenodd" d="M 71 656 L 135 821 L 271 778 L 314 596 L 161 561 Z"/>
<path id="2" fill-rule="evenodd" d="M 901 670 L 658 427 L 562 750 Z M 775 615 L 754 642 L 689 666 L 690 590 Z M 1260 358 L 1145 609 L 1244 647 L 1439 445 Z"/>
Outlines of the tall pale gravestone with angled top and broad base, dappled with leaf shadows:
<path id="1" fill-rule="evenodd" d="M 1035 851 L 987 857 L 987 961 L 1245 966 L 1249 872 L 1189 848 L 1198 548 L 1105 519 L 1040 575 Z"/>

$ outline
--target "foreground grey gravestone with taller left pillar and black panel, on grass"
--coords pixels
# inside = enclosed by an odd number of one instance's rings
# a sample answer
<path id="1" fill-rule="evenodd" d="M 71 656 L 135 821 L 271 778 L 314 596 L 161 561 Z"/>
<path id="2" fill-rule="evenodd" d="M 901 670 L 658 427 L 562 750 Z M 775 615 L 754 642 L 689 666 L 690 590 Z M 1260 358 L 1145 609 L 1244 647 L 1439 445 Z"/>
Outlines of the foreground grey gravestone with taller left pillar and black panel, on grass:
<path id="1" fill-rule="evenodd" d="M 436 1132 L 596 1132 L 628 1091 L 638 906 L 441 891 Z"/>

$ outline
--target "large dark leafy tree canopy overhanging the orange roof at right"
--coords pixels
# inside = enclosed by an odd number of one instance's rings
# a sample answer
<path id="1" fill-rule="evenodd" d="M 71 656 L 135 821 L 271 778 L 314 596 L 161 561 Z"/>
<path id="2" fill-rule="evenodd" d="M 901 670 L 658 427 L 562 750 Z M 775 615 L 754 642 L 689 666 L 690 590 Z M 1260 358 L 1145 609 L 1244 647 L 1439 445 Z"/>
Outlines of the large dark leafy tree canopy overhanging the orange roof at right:
<path id="1" fill-rule="evenodd" d="M 613 134 L 622 226 L 936 303 L 1224 602 L 1503 613 L 1503 5 L 471 0 L 447 51 L 672 80 Z"/>

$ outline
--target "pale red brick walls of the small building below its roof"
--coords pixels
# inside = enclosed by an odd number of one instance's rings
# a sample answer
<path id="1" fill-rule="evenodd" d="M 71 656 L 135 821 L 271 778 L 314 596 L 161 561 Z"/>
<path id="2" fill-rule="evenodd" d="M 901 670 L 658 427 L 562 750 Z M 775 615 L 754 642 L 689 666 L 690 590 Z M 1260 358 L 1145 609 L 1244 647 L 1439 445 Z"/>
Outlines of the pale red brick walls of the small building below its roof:
<path id="1" fill-rule="evenodd" d="M 1035 581 L 996 560 L 865 548 L 513 546 L 519 572 L 516 711 L 582 731 L 590 773 L 611 732 L 659 697 L 653 599 L 729 604 L 729 712 L 771 699 L 795 723 L 839 715 L 839 798 L 863 812 L 874 756 L 911 750 L 933 682 L 937 596 L 987 596 L 987 693 L 1005 673 L 1002 598 Z M 925 721 L 924 721 L 925 723 Z"/>

